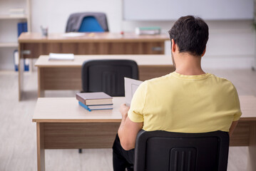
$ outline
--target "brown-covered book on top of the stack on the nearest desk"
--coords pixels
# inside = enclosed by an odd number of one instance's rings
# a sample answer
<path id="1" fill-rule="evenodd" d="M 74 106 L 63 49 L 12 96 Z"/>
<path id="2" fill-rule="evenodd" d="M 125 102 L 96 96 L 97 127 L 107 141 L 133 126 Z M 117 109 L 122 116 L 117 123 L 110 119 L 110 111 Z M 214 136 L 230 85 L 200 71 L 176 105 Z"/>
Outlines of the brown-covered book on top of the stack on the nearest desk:
<path id="1" fill-rule="evenodd" d="M 76 93 L 76 99 L 85 105 L 111 105 L 113 98 L 103 92 Z"/>

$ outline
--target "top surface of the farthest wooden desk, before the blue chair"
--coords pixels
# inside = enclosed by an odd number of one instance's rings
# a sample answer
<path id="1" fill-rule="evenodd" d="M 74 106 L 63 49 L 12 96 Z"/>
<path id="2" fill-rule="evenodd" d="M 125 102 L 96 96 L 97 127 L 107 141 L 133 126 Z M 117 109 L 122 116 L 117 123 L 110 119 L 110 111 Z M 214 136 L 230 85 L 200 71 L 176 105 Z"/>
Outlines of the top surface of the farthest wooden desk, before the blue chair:
<path id="1" fill-rule="evenodd" d="M 135 33 L 84 33 L 81 36 L 68 36 L 68 33 L 50 33 L 47 37 L 41 33 L 21 33 L 19 43 L 53 43 L 53 42 L 128 42 L 128 41 L 168 41 L 168 34 L 136 35 Z"/>

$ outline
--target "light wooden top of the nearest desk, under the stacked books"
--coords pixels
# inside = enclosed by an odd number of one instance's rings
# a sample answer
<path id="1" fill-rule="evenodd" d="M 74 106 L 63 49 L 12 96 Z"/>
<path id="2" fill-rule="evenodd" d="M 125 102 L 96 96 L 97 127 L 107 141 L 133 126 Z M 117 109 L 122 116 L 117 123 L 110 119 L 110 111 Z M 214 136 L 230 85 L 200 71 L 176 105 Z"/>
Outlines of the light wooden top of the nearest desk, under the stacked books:
<path id="1" fill-rule="evenodd" d="M 239 96 L 242 117 L 240 120 L 256 120 L 256 97 Z M 125 98 L 113 98 L 113 110 L 89 112 L 76 98 L 39 98 L 33 115 L 36 123 L 120 123 L 119 106 Z"/>

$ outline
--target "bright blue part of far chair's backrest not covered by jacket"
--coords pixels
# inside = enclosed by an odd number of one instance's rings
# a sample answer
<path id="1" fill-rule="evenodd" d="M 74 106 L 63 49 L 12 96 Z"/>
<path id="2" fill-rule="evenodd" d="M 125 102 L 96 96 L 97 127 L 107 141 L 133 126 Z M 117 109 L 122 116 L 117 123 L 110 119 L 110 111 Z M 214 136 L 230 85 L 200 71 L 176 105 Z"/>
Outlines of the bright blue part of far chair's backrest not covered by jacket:
<path id="1" fill-rule="evenodd" d="M 94 16 L 86 16 L 78 32 L 104 32 L 104 30 Z"/>

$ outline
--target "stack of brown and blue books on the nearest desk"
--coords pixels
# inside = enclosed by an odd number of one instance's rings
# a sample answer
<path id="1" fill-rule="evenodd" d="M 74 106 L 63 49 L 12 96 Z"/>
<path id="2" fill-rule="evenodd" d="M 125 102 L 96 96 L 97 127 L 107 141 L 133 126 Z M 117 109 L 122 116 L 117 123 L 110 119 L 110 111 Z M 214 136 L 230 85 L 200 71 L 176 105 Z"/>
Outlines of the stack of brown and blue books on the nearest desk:
<path id="1" fill-rule="evenodd" d="M 113 109 L 113 98 L 103 92 L 96 93 L 76 93 L 79 105 L 86 110 L 106 110 Z"/>

